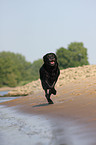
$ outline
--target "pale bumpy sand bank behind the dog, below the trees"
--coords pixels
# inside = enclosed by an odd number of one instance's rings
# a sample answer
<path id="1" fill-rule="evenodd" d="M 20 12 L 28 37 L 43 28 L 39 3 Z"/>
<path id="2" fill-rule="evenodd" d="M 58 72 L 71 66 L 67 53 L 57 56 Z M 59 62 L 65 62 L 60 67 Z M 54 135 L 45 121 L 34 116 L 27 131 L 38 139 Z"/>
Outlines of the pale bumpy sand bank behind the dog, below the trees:
<path id="1" fill-rule="evenodd" d="M 86 65 L 83 67 L 68 68 L 60 71 L 60 77 L 56 84 L 56 87 L 64 86 L 70 82 L 76 82 L 88 78 L 96 77 L 96 65 Z M 11 95 L 28 95 L 41 91 L 40 79 L 32 81 L 31 83 L 22 87 L 16 87 L 13 91 L 9 92 Z"/>

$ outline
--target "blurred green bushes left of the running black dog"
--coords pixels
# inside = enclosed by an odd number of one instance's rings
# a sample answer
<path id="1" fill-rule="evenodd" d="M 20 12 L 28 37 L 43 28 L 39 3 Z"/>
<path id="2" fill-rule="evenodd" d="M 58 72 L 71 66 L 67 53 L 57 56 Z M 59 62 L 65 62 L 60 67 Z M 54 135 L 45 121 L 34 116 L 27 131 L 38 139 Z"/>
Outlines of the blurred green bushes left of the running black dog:
<path id="1" fill-rule="evenodd" d="M 39 78 L 42 59 L 33 63 L 27 62 L 21 54 L 12 52 L 0 53 L 0 87 L 15 87 L 20 82 L 31 82 Z M 25 83 L 24 83 L 25 84 Z"/>

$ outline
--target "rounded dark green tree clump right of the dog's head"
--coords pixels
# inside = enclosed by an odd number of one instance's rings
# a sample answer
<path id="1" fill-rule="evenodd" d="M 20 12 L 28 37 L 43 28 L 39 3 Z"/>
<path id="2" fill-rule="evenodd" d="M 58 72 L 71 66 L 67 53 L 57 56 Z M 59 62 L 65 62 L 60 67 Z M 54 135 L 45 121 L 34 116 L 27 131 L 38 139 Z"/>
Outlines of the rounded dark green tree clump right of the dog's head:
<path id="1" fill-rule="evenodd" d="M 68 49 L 61 47 L 57 49 L 56 55 L 61 69 L 89 64 L 87 48 L 82 42 L 73 42 L 68 45 Z"/>

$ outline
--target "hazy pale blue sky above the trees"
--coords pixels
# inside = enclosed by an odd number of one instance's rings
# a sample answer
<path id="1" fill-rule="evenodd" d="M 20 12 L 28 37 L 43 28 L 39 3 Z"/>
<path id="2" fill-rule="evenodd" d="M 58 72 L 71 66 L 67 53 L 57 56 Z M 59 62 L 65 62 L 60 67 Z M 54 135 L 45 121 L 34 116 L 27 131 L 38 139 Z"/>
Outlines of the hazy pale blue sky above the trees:
<path id="1" fill-rule="evenodd" d="M 0 0 L 0 51 L 33 62 L 75 41 L 96 64 L 96 0 Z"/>

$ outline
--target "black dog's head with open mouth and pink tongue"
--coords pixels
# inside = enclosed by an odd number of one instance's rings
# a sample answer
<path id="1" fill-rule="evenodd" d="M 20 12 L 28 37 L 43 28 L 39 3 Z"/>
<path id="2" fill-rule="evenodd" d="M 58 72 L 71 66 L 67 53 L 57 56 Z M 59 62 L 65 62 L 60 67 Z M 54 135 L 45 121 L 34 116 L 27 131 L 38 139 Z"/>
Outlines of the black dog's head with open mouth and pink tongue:
<path id="1" fill-rule="evenodd" d="M 57 57 L 54 53 L 47 53 L 46 55 L 44 55 L 43 61 L 46 65 L 55 66 L 55 64 L 57 63 Z"/>

